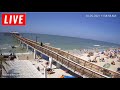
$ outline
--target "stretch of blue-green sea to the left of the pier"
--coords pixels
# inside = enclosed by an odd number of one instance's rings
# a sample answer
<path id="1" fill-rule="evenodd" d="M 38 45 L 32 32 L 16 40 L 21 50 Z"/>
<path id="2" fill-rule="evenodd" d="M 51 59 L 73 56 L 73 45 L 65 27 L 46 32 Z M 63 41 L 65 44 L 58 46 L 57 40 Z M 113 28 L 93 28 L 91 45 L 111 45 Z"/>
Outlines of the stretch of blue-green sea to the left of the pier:
<path id="1" fill-rule="evenodd" d="M 16 46 L 12 49 L 11 46 Z M 20 47 L 17 39 L 15 39 L 11 34 L 0 33 L 0 54 L 1 53 L 22 53 L 26 52 L 25 48 Z"/>

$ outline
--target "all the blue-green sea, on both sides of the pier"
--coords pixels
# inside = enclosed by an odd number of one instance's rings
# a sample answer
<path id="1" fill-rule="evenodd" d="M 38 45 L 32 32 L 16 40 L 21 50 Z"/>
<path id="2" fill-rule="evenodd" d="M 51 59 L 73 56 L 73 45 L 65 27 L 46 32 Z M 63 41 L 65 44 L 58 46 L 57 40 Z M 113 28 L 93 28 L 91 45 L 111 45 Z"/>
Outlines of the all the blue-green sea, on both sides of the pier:
<path id="1" fill-rule="evenodd" d="M 36 40 L 37 37 L 38 42 L 50 43 L 51 46 L 61 48 L 63 50 L 93 49 L 93 48 L 104 50 L 107 48 L 120 47 L 119 44 L 75 37 L 32 33 L 21 33 L 20 35 L 32 40 Z M 19 47 L 19 42 L 15 38 L 13 38 L 12 35 L 0 33 L 0 48 L 2 48 L 2 52 L 10 52 L 12 50 L 11 49 L 12 45 L 17 46 L 15 52 L 25 52 L 25 49 L 21 49 Z"/>

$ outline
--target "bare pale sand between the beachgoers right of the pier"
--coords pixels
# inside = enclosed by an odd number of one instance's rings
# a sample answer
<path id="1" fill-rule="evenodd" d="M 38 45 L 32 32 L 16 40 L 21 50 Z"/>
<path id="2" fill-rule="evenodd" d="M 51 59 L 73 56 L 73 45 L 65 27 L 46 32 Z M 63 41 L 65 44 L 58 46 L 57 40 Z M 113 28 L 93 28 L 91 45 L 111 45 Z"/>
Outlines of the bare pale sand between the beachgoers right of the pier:
<path id="1" fill-rule="evenodd" d="M 87 57 L 88 54 L 87 53 L 82 53 L 81 54 L 79 52 L 79 50 L 70 50 L 69 53 L 74 54 L 75 56 L 77 56 L 77 57 L 79 57 L 79 58 L 81 58 L 83 60 L 86 60 L 86 61 L 89 60 L 89 58 Z M 98 55 L 98 53 L 94 52 L 94 55 L 91 56 L 90 59 L 93 60 L 96 55 Z M 109 70 L 112 70 L 112 71 L 115 71 L 115 72 L 117 71 L 117 68 L 120 67 L 120 62 L 117 61 L 118 58 L 109 58 L 109 59 L 107 59 L 107 57 L 105 55 L 103 55 L 103 54 L 99 54 L 99 56 L 100 57 L 96 58 L 97 62 L 92 62 L 92 63 L 94 63 L 94 64 L 96 64 L 98 66 L 101 66 L 101 67 L 105 66 L 105 64 L 109 64 L 109 67 L 106 68 L 106 69 L 109 69 Z M 120 57 L 120 55 L 118 55 L 118 56 Z M 100 58 L 104 58 L 104 62 L 100 61 L 99 60 Z M 111 64 L 112 61 L 115 62 L 115 65 Z"/>

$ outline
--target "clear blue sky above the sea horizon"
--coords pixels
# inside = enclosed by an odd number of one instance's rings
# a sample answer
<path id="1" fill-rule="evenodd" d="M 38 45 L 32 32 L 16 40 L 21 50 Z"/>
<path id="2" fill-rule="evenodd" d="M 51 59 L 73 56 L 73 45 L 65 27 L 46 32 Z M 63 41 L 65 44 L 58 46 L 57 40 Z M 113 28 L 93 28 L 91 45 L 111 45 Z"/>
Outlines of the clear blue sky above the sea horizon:
<path id="1" fill-rule="evenodd" d="M 120 44 L 120 12 L 18 13 L 26 13 L 26 26 L 2 26 L 0 24 L 0 32 L 17 31 L 61 35 Z"/>

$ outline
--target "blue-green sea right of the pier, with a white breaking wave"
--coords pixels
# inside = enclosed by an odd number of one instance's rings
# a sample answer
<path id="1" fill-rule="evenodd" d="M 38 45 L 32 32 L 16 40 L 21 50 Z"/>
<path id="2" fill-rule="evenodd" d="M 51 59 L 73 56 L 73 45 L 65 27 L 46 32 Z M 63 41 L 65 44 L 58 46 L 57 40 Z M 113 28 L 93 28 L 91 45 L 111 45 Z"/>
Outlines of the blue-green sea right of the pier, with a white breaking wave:
<path id="1" fill-rule="evenodd" d="M 51 46 L 61 48 L 63 50 L 93 49 L 93 48 L 104 50 L 107 48 L 120 47 L 119 44 L 67 36 L 47 34 L 25 34 L 25 33 L 21 35 L 32 40 L 36 40 L 37 37 L 38 42 L 50 43 Z"/>

